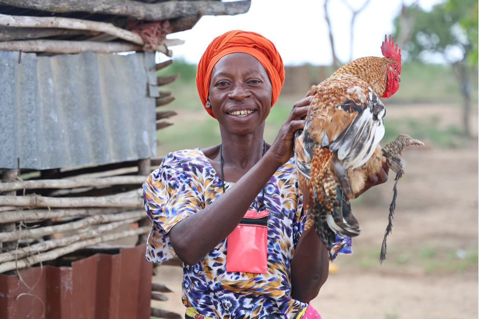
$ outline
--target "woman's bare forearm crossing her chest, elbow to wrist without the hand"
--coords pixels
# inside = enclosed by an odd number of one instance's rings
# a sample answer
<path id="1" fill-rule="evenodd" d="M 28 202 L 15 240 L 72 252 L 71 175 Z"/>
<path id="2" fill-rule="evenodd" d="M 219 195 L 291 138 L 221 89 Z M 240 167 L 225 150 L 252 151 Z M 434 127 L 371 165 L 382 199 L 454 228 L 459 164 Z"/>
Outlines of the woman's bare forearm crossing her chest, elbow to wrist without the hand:
<path id="1" fill-rule="evenodd" d="M 170 238 L 178 257 L 185 264 L 194 265 L 230 235 L 279 166 L 267 152 L 227 192 L 176 224 L 170 230 Z"/>

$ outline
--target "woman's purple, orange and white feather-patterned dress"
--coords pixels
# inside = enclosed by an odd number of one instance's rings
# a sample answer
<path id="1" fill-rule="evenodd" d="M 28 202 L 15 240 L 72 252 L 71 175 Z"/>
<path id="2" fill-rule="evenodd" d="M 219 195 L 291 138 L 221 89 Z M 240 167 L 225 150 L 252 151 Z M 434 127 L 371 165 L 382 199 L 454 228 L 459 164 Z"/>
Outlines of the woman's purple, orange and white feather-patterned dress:
<path id="1" fill-rule="evenodd" d="M 234 185 L 224 184 L 226 191 Z M 218 174 L 201 149 L 168 154 L 143 189 L 145 208 L 153 220 L 146 260 L 154 263 L 175 256 L 170 229 L 223 192 Z M 250 209 L 256 210 L 261 195 L 260 192 Z M 227 272 L 228 243 L 223 240 L 200 263 L 183 266 L 182 301 L 186 307 L 205 316 L 233 319 L 294 318 L 298 310 L 307 306 L 291 298 L 291 261 L 306 220 L 298 196 L 294 159 L 281 166 L 266 184 L 264 204 L 270 213 L 267 272 Z M 336 239 L 336 254 L 350 254 L 351 239 Z"/>

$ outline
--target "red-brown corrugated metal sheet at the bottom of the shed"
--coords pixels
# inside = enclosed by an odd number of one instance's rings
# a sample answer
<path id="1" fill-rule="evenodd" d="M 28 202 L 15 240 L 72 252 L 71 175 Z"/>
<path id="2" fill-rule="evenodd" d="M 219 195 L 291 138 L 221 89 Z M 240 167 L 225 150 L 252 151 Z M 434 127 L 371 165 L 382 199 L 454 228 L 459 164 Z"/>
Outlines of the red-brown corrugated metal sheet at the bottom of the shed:
<path id="1" fill-rule="evenodd" d="M 152 272 L 139 245 L 68 268 L 21 270 L 21 279 L 0 275 L 0 318 L 149 319 Z"/>

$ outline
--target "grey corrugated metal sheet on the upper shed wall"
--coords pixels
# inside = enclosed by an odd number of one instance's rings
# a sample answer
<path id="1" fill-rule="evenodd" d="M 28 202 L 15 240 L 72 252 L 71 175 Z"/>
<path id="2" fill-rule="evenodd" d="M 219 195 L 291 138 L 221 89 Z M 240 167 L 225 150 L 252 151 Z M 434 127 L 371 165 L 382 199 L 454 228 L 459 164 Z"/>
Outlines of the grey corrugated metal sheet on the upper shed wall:
<path id="1" fill-rule="evenodd" d="M 0 51 L 0 169 L 155 156 L 155 85 L 151 52 Z"/>

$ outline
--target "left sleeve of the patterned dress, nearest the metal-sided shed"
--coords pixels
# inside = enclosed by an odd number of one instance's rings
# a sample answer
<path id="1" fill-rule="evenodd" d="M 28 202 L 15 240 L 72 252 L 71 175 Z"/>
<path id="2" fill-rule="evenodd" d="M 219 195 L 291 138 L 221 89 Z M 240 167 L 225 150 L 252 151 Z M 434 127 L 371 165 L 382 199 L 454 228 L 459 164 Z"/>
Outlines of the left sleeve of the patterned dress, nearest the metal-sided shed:
<path id="1" fill-rule="evenodd" d="M 200 211 L 204 205 L 190 178 L 172 166 L 162 165 L 143 184 L 145 209 L 153 221 L 146 260 L 161 263 L 173 258 L 169 231 L 178 222 Z"/>

